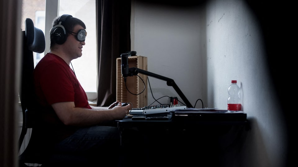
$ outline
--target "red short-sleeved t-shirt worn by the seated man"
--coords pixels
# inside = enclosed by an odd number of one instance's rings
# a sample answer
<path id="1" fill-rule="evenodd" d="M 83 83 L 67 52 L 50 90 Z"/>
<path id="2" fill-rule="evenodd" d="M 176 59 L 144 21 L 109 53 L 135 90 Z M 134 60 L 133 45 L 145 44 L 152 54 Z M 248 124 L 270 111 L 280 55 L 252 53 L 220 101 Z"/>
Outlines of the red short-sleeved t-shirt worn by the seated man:
<path id="1" fill-rule="evenodd" d="M 65 126 L 52 104 L 58 102 L 75 102 L 75 107 L 91 109 L 87 95 L 70 66 L 55 54 L 46 54 L 34 69 L 34 86 L 38 105 L 41 109 L 42 126 L 49 139 L 58 141 L 74 133 L 78 127 Z M 50 136 L 51 135 L 51 136 Z"/>

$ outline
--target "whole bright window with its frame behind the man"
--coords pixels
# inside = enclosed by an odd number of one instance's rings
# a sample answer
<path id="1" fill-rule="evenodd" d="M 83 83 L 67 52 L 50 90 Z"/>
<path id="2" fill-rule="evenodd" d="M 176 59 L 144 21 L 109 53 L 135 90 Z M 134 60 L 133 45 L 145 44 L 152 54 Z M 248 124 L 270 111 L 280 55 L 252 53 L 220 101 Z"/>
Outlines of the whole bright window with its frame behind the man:
<path id="1" fill-rule="evenodd" d="M 96 0 L 23 0 L 22 30 L 25 30 L 25 19 L 33 20 L 34 26 L 41 29 L 46 38 L 46 50 L 34 54 L 34 64 L 49 51 L 49 32 L 53 19 L 58 15 L 70 14 L 86 24 L 86 45 L 82 57 L 72 61 L 75 75 L 87 93 L 88 100 L 97 97 L 97 42 L 96 42 Z M 71 67 L 72 68 L 72 67 Z"/>

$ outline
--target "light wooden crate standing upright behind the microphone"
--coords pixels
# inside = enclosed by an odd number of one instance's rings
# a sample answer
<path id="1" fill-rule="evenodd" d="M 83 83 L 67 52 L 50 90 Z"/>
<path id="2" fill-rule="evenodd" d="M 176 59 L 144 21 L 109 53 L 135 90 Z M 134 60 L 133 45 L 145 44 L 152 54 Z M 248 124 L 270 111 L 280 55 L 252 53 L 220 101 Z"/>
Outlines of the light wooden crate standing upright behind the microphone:
<path id="1" fill-rule="evenodd" d="M 116 100 L 131 102 L 133 108 L 147 106 L 147 75 L 138 73 L 138 76 L 128 76 L 125 85 L 124 78 L 121 75 L 121 58 L 117 58 L 116 61 Z M 130 56 L 128 57 L 128 65 L 129 68 L 136 67 L 147 71 L 147 57 Z"/>

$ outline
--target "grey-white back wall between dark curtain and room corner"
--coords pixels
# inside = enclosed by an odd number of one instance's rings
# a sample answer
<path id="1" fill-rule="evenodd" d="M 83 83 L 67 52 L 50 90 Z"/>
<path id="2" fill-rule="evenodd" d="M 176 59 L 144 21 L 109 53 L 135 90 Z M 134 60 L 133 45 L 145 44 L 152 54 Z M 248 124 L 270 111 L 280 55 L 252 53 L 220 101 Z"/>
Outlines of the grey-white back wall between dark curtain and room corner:
<path id="1" fill-rule="evenodd" d="M 132 17 L 132 50 L 148 58 L 147 71 L 174 79 L 188 101 L 206 102 L 206 63 L 200 54 L 200 10 L 187 10 L 136 2 Z M 134 25 L 133 25 L 134 24 Z M 134 38 L 133 38 L 134 37 Z M 178 96 L 174 88 L 149 77 L 155 99 Z M 178 96 L 178 100 L 182 99 Z M 169 98 L 158 100 L 169 104 Z M 148 85 L 148 105 L 154 102 Z M 183 102 L 183 101 L 182 101 Z M 158 103 L 154 103 L 158 105 Z M 201 108 L 198 101 L 196 107 Z M 204 104 L 204 107 L 207 107 Z"/>

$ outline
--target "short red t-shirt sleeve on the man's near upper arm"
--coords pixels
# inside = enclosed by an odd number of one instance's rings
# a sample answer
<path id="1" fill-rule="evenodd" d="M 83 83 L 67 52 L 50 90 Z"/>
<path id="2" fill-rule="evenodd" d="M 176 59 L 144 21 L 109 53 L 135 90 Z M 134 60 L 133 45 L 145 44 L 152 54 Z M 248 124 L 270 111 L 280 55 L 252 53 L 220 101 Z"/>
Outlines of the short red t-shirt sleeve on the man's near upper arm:
<path id="1" fill-rule="evenodd" d="M 75 91 L 71 79 L 71 76 L 60 64 L 52 63 L 44 69 L 40 86 L 48 104 L 75 101 Z"/>

